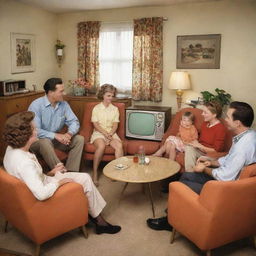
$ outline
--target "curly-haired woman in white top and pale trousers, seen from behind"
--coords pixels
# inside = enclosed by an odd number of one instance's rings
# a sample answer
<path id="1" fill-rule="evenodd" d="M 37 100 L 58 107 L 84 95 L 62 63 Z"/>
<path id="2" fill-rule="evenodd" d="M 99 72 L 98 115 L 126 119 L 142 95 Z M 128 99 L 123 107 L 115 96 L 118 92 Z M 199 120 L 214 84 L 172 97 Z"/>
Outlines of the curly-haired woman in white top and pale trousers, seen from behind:
<path id="1" fill-rule="evenodd" d="M 102 217 L 101 212 L 106 202 L 94 186 L 90 175 L 66 172 L 62 163 L 57 164 L 47 175 L 43 173 L 36 156 L 29 152 L 31 144 L 37 140 L 33 119 L 34 113 L 25 111 L 11 116 L 6 121 L 3 132 L 3 138 L 8 144 L 4 156 L 6 171 L 22 180 L 38 200 L 50 198 L 65 183 L 81 184 L 88 199 L 90 219 L 96 226 L 96 233 L 119 232 L 120 226 L 113 226 Z"/>

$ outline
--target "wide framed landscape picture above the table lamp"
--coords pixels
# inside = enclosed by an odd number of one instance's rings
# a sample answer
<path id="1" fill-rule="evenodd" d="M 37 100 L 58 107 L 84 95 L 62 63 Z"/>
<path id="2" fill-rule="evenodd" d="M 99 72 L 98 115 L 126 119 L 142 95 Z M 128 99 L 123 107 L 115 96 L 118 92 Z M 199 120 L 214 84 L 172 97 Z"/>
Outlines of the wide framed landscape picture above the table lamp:
<path id="1" fill-rule="evenodd" d="M 176 68 L 220 68 L 220 34 L 177 36 Z"/>

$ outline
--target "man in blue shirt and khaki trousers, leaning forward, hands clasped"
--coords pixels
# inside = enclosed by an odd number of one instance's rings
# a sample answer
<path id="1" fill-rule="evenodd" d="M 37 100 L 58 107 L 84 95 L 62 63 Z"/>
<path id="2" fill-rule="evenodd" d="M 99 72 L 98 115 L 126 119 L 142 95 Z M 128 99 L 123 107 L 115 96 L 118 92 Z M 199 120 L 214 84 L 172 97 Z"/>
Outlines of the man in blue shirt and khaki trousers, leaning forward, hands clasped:
<path id="1" fill-rule="evenodd" d="M 84 137 L 78 135 L 80 124 L 69 104 L 63 100 L 64 85 L 60 78 L 50 78 L 44 84 L 46 95 L 34 100 L 28 110 L 35 113 L 38 141 L 31 146 L 53 169 L 61 161 L 54 148 L 69 151 L 64 171 L 79 172 L 84 147 Z M 60 131 L 67 126 L 67 132 Z"/>

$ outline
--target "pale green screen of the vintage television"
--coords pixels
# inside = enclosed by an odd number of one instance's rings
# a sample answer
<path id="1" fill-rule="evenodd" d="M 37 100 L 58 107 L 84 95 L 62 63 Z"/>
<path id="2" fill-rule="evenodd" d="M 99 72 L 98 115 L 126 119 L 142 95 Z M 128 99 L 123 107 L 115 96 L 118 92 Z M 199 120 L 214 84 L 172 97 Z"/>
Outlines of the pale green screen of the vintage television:
<path id="1" fill-rule="evenodd" d="M 153 113 L 133 112 L 129 115 L 128 130 L 131 134 L 152 136 L 155 132 Z"/>

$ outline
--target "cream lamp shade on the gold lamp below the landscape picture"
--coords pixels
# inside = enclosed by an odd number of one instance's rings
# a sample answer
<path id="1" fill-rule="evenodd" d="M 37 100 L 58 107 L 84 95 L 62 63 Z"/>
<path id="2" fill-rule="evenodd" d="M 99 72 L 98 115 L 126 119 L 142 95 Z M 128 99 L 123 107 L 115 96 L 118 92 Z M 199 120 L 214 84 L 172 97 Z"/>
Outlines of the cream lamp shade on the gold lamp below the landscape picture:
<path id="1" fill-rule="evenodd" d="M 189 81 L 188 73 L 185 71 L 172 72 L 170 81 L 169 81 L 169 89 L 175 89 L 175 90 L 190 89 L 190 81 Z"/>

